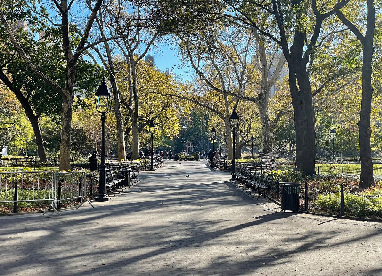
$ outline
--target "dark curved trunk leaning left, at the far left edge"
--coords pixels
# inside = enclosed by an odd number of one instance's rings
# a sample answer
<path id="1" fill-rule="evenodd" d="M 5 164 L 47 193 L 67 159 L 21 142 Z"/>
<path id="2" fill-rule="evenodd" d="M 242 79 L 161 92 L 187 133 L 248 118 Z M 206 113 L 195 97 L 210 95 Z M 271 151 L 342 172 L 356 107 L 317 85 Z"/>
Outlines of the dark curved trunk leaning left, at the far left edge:
<path id="1" fill-rule="evenodd" d="M 24 112 L 31 123 L 34 136 L 36 137 L 37 144 L 37 152 L 39 153 L 40 163 L 47 162 L 47 154 L 45 152 L 45 143 L 42 138 L 40 124 L 39 124 L 39 116 L 34 115 L 31 105 L 28 100 L 24 97 L 24 94 L 21 90 L 13 87 L 12 82 L 8 79 L 8 77 L 3 73 L 3 70 L 0 70 L 0 79 L 8 86 L 8 88 L 15 94 L 16 98 L 21 103 L 21 106 L 24 108 Z"/>

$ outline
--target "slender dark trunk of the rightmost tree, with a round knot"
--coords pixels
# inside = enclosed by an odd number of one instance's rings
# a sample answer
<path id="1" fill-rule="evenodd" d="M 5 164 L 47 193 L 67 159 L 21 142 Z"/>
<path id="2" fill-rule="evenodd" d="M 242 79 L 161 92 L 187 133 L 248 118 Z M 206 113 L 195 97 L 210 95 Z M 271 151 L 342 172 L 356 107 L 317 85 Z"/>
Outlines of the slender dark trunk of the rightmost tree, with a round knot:
<path id="1" fill-rule="evenodd" d="M 367 19 L 373 21 L 374 8 L 372 0 L 368 0 Z M 375 22 L 375 19 L 374 19 Z M 359 128 L 359 154 L 361 157 L 361 178 L 359 180 L 359 187 L 366 188 L 374 186 L 374 171 L 373 162 L 371 158 L 371 102 L 373 95 L 373 87 L 371 84 L 371 62 L 373 54 L 373 40 L 374 40 L 374 24 L 368 22 L 366 36 L 363 43 L 363 65 L 362 65 L 362 99 L 361 99 L 361 112 L 358 122 Z M 370 26 L 373 25 L 373 26 Z M 373 29 L 373 30 L 372 30 Z"/>

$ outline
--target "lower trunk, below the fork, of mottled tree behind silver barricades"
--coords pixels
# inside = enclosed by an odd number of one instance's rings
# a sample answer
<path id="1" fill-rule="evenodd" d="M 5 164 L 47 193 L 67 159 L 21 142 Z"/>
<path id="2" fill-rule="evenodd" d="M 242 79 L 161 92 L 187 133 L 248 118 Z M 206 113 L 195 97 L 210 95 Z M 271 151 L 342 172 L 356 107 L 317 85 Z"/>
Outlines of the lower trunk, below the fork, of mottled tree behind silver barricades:
<path id="1" fill-rule="evenodd" d="M 60 165 L 59 170 L 70 169 L 70 140 L 71 140 L 71 123 L 73 111 L 73 97 L 70 91 L 65 91 L 65 98 L 62 103 L 62 128 L 60 143 Z"/>

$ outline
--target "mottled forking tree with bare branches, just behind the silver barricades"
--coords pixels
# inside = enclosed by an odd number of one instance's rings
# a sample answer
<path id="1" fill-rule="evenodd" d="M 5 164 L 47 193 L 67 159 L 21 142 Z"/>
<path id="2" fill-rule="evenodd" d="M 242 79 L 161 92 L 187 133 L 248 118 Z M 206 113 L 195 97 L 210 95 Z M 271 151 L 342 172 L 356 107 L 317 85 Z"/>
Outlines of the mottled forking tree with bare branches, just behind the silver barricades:
<path id="1" fill-rule="evenodd" d="M 42 68 L 37 68 L 28 57 L 24 48 L 21 46 L 18 38 L 8 24 L 8 17 L 12 18 L 10 13 L 15 8 L 30 9 L 25 3 L 21 1 L 4 1 L 3 5 L 0 7 L 0 19 L 8 32 L 8 36 L 12 44 L 14 45 L 18 55 L 23 59 L 24 66 L 28 66 L 31 71 L 40 77 L 46 84 L 50 85 L 52 89 L 57 91 L 57 93 L 62 97 L 62 132 L 61 132 L 61 142 L 60 142 L 60 165 L 59 169 L 70 168 L 70 140 L 71 140 L 71 120 L 73 111 L 73 98 L 74 98 L 74 87 L 76 79 L 76 70 L 78 68 L 78 60 L 84 54 L 84 52 L 91 48 L 92 45 L 97 45 L 103 40 L 98 40 L 93 42 L 91 45 L 85 46 L 89 34 L 94 23 L 95 16 L 102 4 L 102 0 L 96 0 L 91 13 L 88 16 L 87 22 L 84 26 L 83 36 L 80 38 L 78 44 L 73 43 L 73 37 L 70 32 L 70 15 L 74 0 L 68 3 L 66 0 L 54 1 L 54 8 L 57 9 L 57 15 L 60 18 L 60 27 L 62 30 L 62 48 L 65 56 L 65 82 L 60 84 L 54 81 L 52 78 L 47 76 Z M 21 5 L 19 5 L 21 3 Z M 5 13 L 5 14 L 4 14 Z M 108 40 L 114 39 L 108 38 Z M 73 49 L 75 48 L 74 52 Z"/>

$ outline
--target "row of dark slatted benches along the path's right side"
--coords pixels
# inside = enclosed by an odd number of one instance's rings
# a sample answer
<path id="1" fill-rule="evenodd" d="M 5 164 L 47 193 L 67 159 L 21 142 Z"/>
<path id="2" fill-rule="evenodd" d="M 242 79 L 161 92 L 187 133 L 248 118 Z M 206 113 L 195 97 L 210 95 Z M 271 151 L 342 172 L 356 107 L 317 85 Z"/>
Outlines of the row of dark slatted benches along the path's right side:
<path id="1" fill-rule="evenodd" d="M 243 190 L 246 189 L 246 192 L 251 190 L 249 194 L 254 192 L 253 197 L 255 194 L 267 197 L 274 186 L 278 187 L 278 177 L 275 179 L 274 176 L 267 174 L 261 165 L 239 166 L 231 174 L 234 184 Z"/>

